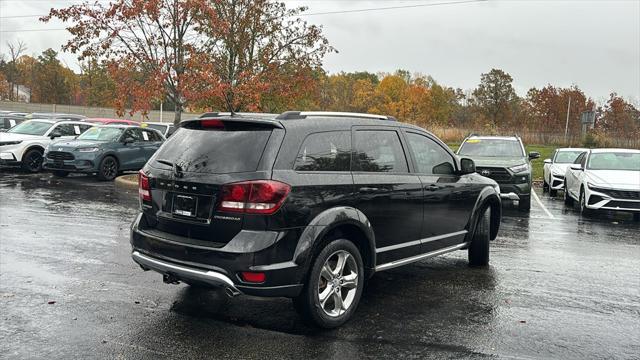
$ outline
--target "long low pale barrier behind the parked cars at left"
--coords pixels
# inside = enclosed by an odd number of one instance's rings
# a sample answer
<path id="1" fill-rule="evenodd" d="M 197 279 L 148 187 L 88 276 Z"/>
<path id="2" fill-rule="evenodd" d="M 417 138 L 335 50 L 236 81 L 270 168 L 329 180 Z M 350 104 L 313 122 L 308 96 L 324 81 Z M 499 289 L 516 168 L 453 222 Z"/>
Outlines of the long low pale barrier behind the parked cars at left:
<path id="1" fill-rule="evenodd" d="M 133 116 L 127 116 L 128 111 L 125 111 L 125 116 L 116 115 L 116 110 L 112 108 L 100 108 L 89 106 L 75 106 L 75 105 L 60 105 L 60 104 L 35 104 L 35 103 L 23 103 L 13 101 L 0 101 L 0 110 L 9 110 L 15 112 L 57 112 L 67 114 L 78 114 L 86 117 L 102 117 L 113 119 L 131 119 L 136 121 L 162 121 L 173 122 L 173 111 L 160 111 L 153 110 L 149 112 L 146 117 L 142 114 L 136 113 Z M 182 119 L 189 119 L 198 117 L 200 114 L 194 113 L 182 113 Z"/>

